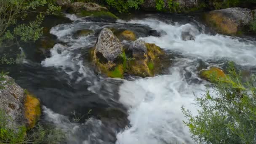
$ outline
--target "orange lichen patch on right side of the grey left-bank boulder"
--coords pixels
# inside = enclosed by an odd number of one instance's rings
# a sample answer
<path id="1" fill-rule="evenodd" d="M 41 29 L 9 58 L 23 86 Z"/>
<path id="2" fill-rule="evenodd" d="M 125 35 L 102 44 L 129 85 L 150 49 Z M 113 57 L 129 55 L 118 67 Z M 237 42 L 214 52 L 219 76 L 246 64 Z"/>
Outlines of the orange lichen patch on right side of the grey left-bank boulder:
<path id="1" fill-rule="evenodd" d="M 41 115 L 40 101 L 30 93 L 27 93 L 25 102 L 25 118 L 27 119 L 28 128 L 33 128 Z"/>

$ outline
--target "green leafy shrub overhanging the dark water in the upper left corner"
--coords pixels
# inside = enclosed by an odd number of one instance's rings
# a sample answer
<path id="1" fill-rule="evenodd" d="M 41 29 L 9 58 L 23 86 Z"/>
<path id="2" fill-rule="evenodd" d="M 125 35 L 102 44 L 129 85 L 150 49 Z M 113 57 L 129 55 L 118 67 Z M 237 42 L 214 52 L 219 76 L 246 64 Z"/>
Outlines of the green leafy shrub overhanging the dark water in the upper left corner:
<path id="1" fill-rule="evenodd" d="M 17 40 L 27 42 L 39 39 L 43 34 L 40 24 L 44 15 L 57 14 L 61 10 L 55 2 L 56 0 L 0 0 L 0 46 Z M 39 7 L 47 7 L 47 10 L 37 11 Z M 35 21 L 25 24 L 24 20 L 32 13 L 39 14 Z"/>

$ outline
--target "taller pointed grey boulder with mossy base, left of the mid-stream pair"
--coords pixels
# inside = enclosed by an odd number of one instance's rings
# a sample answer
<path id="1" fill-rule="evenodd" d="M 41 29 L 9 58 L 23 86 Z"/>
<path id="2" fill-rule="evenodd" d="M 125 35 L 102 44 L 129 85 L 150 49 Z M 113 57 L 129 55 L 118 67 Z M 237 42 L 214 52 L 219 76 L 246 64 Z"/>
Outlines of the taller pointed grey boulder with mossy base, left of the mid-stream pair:
<path id="1" fill-rule="evenodd" d="M 94 64 L 108 77 L 123 78 L 125 61 L 120 40 L 107 28 L 101 30 L 95 48 L 91 51 Z"/>

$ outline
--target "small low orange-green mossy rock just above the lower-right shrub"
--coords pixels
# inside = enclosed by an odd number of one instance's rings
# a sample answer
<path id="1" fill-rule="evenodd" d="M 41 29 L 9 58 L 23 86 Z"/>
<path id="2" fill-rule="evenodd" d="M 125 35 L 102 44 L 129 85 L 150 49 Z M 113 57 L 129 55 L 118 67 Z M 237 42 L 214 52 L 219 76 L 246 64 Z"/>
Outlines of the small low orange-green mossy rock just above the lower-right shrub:
<path id="1" fill-rule="evenodd" d="M 200 76 L 205 80 L 209 80 L 209 81 L 212 81 L 212 78 L 219 79 L 219 78 L 226 77 L 225 73 L 217 67 L 212 67 L 210 69 L 203 70 Z"/>

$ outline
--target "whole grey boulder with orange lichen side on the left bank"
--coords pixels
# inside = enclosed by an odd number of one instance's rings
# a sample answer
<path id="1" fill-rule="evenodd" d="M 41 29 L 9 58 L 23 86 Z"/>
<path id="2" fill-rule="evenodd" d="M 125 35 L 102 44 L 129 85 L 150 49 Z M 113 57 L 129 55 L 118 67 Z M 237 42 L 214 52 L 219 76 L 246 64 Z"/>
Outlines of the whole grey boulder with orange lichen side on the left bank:
<path id="1" fill-rule="evenodd" d="M 7 83 L 0 90 L 0 109 L 3 109 L 13 121 L 9 125 L 16 128 L 26 125 L 33 128 L 40 117 L 40 102 L 17 85 L 11 77 L 4 76 Z M 36 109 L 35 111 L 33 109 Z"/>

